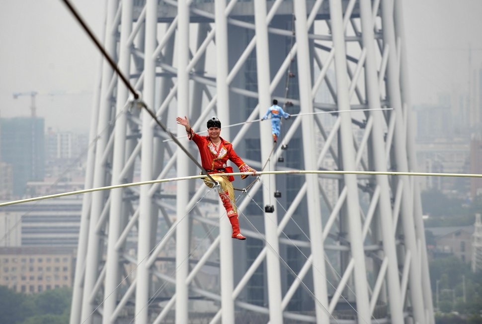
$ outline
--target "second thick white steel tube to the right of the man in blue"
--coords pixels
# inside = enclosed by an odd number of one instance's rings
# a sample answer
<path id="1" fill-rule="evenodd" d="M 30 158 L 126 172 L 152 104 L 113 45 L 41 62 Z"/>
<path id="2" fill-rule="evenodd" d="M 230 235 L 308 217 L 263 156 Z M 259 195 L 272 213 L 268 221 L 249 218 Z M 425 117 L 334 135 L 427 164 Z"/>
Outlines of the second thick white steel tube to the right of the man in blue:
<path id="1" fill-rule="evenodd" d="M 340 0 L 329 1 L 331 18 L 331 34 L 335 48 L 335 74 L 337 89 L 338 109 L 349 109 L 348 80 L 346 68 L 345 40 L 343 28 L 343 15 Z M 342 166 L 344 169 L 355 170 L 355 149 L 353 147 L 353 133 L 351 118 L 347 114 L 340 116 L 340 138 Z M 348 231 L 350 237 L 351 256 L 356 267 L 353 271 L 356 292 L 356 308 L 358 323 L 369 323 L 369 297 L 366 278 L 365 252 L 361 236 L 360 204 L 358 200 L 358 187 L 355 175 L 345 175 L 344 182 L 347 188 L 346 211 Z M 347 270 L 346 270 L 347 271 Z"/>

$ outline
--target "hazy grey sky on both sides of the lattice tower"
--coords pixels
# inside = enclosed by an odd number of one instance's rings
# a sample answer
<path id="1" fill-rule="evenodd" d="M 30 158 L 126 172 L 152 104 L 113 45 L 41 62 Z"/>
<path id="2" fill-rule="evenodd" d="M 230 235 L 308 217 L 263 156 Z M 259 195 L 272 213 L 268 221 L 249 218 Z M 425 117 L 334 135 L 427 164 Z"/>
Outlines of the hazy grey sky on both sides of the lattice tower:
<path id="1" fill-rule="evenodd" d="M 71 1 L 101 38 L 105 0 Z M 62 0 L 0 6 L 0 115 L 29 115 L 30 96 L 12 94 L 37 91 L 46 126 L 87 132 L 100 58 L 91 41 Z M 469 47 L 472 68 L 482 68 L 482 1 L 405 0 L 404 16 L 412 104 L 466 94 Z"/>

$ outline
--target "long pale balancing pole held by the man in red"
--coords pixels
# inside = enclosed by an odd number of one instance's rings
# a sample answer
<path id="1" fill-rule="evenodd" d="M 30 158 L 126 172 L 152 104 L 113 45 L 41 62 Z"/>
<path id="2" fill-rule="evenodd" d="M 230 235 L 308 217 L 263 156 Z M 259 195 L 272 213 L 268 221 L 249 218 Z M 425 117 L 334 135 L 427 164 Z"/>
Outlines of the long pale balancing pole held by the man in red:
<path id="1" fill-rule="evenodd" d="M 256 175 L 260 176 L 263 174 L 355 174 L 355 175 L 388 175 L 388 176 L 419 176 L 419 177 L 462 177 L 462 178 L 482 178 L 482 174 L 470 174 L 470 173 L 430 173 L 430 172 L 390 172 L 390 171 L 336 171 L 336 170 L 291 170 L 291 171 L 257 171 Z M 232 173 L 217 173 L 216 176 L 250 176 L 252 172 L 232 172 Z M 197 175 L 197 176 L 186 176 L 186 177 L 177 177 L 177 178 L 168 178 L 168 179 L 157 179 L 157 180 L 150 180 L 150 181 L 142 181 L 142 182 L 133 182 L 133 183 L 125 183 L 115 186 L 105 186 L 99 188 L 91 188 L 91 189 L 83 189 L 77 191 L 71 191 L 67 193 L 60 193 L 60 194 L 53 194 L 47 196 L 40 196 L 40 197 L 33 197 L 33 198 L 26 198 L 21 200 L 15 200 L 11 202 L 0 203 L 0 207 L 15 205 L 15 204 L 23 204 L 23 203 L 30 203 L 35 202 L 38 200 L 44 199 L 51 199 L 51 198 L 59 198 L 64 196 L 72 196 L 72 195 L 79 195 L 79 194 L 86 194 L 91 193 L 94 191 L 101 191 L 101 190 L 110 190 L 116 188 L 126 188 L 126 187 L 135 187 L 135 186 L 142 186 L 142 185 L 150 185 L 155 183 L 163 183 L 163 182 L 171 182 L 171 181 L 181 181 L 181 180 L 193 180 L 193 179 L 202 179 L 202 178 L 210 178 L 209 175 Z"/>

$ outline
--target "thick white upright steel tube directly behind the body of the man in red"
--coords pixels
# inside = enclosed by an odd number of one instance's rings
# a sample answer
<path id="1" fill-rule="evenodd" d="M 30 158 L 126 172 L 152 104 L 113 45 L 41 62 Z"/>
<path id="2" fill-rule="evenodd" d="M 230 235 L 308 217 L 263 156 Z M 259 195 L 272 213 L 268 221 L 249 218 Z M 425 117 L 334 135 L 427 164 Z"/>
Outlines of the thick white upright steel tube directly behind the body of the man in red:
<path id="1" fill-rule="evenodd" d="M 222 123 L 229 124 L 229 88 L 228 88 L 228 21 L 226 18 L 226 0 L 215 2 L 215 28 L 216 28 L 216 87 L 217 87 L 217 112 Z M 223 138 L 230 138 L 230 131 L 223 130 Z M 219 211 L 224 213 L 222 202 L 219 202 Z M 228 217 L 219 219 L 220 244 L 220 276 L 221 276 L 221 318 L 223 323 L 235 323 L 235 306 L 233 299 L 233 239 Z"/>

